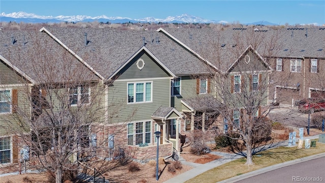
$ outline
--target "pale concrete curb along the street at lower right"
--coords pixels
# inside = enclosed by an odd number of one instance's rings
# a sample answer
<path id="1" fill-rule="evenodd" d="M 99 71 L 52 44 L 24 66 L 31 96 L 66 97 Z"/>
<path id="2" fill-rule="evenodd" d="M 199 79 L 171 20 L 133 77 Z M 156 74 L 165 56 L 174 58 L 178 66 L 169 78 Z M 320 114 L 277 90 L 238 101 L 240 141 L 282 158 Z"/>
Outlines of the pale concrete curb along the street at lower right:
<path id="1" fill-rule="evenodd" d="M 299 158 L 299 159 L 296 159 L 296 160 L 291 160 L 291 161 L 288 161 L 288 162 L 283 162 L 283 163 L 268 166 L 268 167 L 265 167 L 265 168 L 262 168 L 262 169 L 254 170 L 254 171 L 242 174 L 242 175 L 238 175 L 238 176 L 235 176 L 235 177 L 232 177 L 232 178 L 229 178 L 229 179 L 219 181 L 219 183 L 237 182 L 239 180 L 243 180 L 243 179 L 246 179 L 246 178 L 249 178 L 249 177 L 252 177 L 252 176 L 255 176 L 255 175 L 259 175 L 259 174 L 262 174 L 262 173 L 265 173 L 265 172 L 269 172 L 269 171 L 272 171 L 272 170 L 276 170 L 276 169 L 279 169 L 279 168 L 282 168 L 282 167 L 286 167 L 286 166 L 294 165 L 294 164 L 297 164 L 297 163 L 302 163 L 302 162 L 314 160 L 314 159 L 317 159 L 317 158 L 323 158 L 323 157 L 325 157 L 325 153 L 312 155 L 312 156 L 309 156 L 309 157 L 303 157 L 303 158 Z"/>

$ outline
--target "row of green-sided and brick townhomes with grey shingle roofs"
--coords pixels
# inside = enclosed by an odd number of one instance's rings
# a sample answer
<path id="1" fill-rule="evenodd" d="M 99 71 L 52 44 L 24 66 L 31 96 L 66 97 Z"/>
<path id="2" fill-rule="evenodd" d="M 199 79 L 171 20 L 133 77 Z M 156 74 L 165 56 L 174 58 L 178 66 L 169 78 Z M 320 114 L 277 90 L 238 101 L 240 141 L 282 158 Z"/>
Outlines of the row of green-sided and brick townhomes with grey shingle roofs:
<path id="1" fill-rule="evenodd" d="M 157 145 L 160 157 L 175 158 L 179 139 L 194 130 L 236 131 L 243 117 L 267 115 L 275 102 L 323 95 L 323 31 L 1 31 L 1 166 L 17 165 L 25 147 L 30 157 L 53 151 L 57 135 L 41 136 L 57 124 L 64 131 L 79 124 L 78 139 L 64 135 L 81 149 L 70 161 L 111 160 L 123 147 L 146 162 Z M 27 136 L 41 145 L 32 147 Z"/>

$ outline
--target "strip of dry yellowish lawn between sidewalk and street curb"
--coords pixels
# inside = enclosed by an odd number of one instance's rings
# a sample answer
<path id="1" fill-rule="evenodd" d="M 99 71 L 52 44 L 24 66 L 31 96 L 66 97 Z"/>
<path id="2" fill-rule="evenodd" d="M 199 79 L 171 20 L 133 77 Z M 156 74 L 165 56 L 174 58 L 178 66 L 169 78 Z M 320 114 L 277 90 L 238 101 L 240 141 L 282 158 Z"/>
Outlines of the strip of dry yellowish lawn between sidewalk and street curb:
<path id="1" fill-rule="evenodd" d="M 208 170 L 190 180 L 187 180 L 186 183 L 193 182 L 218 182 L 225 180 L 234 176 L 238 176 L 247 172 L 251 172 L 257 169 L 268 167 L 271 165 L 295 160 L 298 158 L 308 157 L 311 155 L 317 155 L 320 153 L 325 153 L 325 144 L 319 143 L 318 139 L 316 140 L 316 147 L 310 147 L 305 149 L 305 144 L 302 149 L 297 149 L 295 147 L 281 146 L 269 150 L 265 150 L 261 153 L 258 153 L 253 156 L 253 162 L 255 165 L 247 166 L 244 165 L 246 162 L 245 158 L 234 160 L 229 163 L 225 163 L 221 166 Z"/>

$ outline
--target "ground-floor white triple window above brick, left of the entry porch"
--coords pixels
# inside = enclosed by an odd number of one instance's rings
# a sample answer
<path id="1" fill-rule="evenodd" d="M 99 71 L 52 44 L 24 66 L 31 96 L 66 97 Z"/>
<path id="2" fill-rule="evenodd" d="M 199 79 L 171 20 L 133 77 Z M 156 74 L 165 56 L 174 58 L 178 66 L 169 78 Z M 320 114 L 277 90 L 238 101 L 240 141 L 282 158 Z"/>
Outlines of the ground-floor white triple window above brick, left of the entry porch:
<path id="1" fill-rule="evenodd" d="M 151 121 L 127 124 L 127 144 L 151 143 Z"/>

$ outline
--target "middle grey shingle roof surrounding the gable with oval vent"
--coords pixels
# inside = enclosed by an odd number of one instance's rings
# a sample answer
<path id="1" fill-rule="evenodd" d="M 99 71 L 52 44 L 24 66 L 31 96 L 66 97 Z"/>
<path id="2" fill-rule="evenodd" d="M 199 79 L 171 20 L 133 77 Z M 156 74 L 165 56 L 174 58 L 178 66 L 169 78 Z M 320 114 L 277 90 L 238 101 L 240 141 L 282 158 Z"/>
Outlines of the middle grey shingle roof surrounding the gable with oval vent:
<path id="1" fill-rule="evenodd" d="M 85 59 L 105 78 L 123 65 L 143 46 L 176 75 L 207 73 L 207 66 L 196 56 L 156 31 L 122 31 L 102 28 L 52 28 L 46 29 L 63 44 Z M 89 43 L 85 46 L 85 33 Z M 156 43 L 157 39 L 159 43 Z M 87 57 L 88 56 L 88 57 Z"/>

